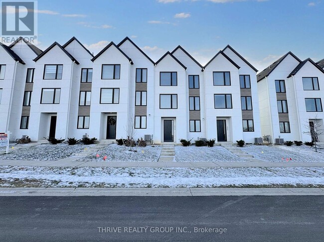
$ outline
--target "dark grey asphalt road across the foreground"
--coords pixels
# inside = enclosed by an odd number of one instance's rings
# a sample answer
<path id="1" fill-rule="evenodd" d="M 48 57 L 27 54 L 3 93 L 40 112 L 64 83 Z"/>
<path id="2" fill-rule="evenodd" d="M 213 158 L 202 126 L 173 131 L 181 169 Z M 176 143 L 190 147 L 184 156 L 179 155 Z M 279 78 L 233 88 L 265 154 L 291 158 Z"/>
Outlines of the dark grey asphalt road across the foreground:
<path id="1" fill-rule="evenodd" d="M 323 238 L 324 196 L 0 197 L 5 242 Z"/>

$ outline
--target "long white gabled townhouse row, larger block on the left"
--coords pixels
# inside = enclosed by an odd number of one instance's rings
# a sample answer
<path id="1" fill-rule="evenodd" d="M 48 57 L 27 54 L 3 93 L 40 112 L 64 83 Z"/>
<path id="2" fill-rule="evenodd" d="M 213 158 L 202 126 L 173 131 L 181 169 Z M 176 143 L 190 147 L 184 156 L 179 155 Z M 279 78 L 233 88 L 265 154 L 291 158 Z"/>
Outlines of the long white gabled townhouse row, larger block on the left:
<path id="1" fill-rule="evenodd" d="M 114 141 L 130 125 L 156 144 L 262 135 L 257 70 L 229 45 L 205 66 L 181 46 L 154 62 L 128 37 L 96 56 L 75 37 L 44 51 L 23 38 L 0 46 L 0 132 L 12 140 Z"/>

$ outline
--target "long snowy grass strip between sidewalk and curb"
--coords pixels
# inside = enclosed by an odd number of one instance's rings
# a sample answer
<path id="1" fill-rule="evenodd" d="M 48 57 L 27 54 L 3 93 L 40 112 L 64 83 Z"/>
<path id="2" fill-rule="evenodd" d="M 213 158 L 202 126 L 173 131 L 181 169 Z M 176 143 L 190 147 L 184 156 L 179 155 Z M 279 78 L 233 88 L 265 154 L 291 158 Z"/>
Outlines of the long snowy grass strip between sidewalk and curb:
<path id="1" fill-rule="evenodd" d="M 0 167 L 1 187 L 324 186 L 324 168 Z"/>

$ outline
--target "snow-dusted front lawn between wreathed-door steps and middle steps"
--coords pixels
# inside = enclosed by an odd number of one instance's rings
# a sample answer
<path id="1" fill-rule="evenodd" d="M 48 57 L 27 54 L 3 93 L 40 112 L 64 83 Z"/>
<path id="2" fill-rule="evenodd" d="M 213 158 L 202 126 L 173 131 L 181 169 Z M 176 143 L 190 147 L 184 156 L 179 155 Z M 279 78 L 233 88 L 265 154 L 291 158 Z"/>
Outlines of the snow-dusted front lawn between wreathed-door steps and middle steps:
<path id="1" fill-rule="evenodd" d="M 106 161 L 158 161 L 161 154 L 160 146 L 146 146 L 146 147 L 133 147 L 132 150 L 129 150 L 130 147 L 112 144 L 108 145 L 105 148 L 99 150 L 96 153 L 93 153 L 87 157 L 79 159 L 79 161 L 103 161 L 103 157 L 107 156 Z M 134 151 L 137 152 L 134 152 Z M 99 158 L 96 155 L 99 155 Z"/>

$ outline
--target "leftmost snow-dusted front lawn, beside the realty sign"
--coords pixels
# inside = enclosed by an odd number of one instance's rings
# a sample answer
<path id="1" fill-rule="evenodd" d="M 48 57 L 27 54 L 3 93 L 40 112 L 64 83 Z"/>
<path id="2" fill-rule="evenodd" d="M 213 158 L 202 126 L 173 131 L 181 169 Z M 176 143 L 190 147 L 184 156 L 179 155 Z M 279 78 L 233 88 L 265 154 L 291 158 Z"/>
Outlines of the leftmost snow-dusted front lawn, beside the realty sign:
<path id="1" fill-rule="evenodd" d="M 44 144 L 34 147 L 11 150 L 9 154 L 0 155 L 0 160 L 38 160 L 56 161 L 72 156 L 74 153 L 81 152 L 89 145 L 67 145 L 67 144 Z"/>

